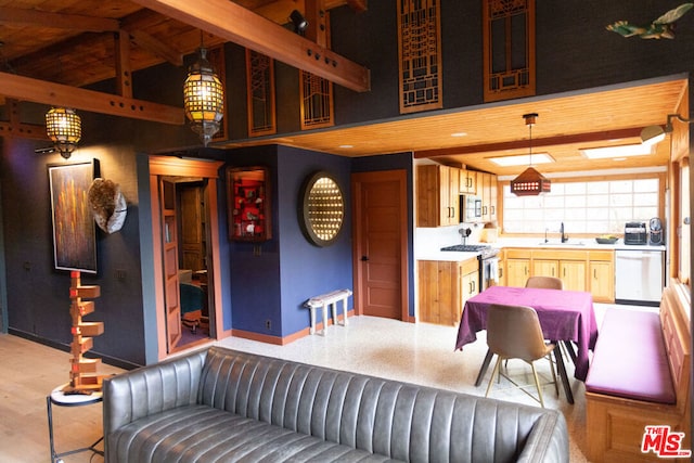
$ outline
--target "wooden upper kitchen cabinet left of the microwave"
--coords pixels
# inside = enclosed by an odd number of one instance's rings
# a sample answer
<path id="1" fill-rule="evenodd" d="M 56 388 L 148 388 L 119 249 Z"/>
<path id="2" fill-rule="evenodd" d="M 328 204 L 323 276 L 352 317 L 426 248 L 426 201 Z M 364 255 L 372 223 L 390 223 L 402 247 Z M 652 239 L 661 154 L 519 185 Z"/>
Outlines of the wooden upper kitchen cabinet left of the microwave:
<path id="1" fill-rule="evenodd" d="M 416 168 L 416 226 L 460 222 L 460 169 L 424 165 Z"/>

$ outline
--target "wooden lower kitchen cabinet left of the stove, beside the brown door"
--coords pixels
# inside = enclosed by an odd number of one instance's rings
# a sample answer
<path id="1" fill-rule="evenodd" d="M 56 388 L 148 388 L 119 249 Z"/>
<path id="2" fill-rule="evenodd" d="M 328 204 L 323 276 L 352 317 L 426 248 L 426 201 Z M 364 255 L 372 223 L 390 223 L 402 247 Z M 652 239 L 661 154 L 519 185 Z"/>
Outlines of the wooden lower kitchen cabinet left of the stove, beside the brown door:
<path id="1" fill-rule="evenodd" d="M 417 261 L 419 320 L 457 325 L 465 301 L 479 292 L 477 259 Z"/>

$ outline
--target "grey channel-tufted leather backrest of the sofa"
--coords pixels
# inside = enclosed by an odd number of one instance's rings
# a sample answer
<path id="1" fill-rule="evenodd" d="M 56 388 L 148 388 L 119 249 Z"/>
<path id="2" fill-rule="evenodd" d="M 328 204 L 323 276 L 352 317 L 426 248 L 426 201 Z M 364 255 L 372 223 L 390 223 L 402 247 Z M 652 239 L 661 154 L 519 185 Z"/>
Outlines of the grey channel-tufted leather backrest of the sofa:
<path id="1" fill-rule="evenodd" d="M 207 355 L 198 401 L 403 461 L 514 461 L 544 413 L 219 347 Z"/>

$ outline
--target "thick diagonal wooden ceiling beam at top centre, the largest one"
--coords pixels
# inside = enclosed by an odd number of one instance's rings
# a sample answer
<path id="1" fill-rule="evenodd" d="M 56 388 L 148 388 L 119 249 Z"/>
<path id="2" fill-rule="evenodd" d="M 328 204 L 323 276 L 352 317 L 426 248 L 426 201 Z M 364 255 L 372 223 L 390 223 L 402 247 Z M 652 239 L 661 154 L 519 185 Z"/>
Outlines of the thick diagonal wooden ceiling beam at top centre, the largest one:
<path id="1" fill-rule="evenodd" d="M 134 2 L 351 90 L 370 90 L 365 67 L 228 0 Z"/>

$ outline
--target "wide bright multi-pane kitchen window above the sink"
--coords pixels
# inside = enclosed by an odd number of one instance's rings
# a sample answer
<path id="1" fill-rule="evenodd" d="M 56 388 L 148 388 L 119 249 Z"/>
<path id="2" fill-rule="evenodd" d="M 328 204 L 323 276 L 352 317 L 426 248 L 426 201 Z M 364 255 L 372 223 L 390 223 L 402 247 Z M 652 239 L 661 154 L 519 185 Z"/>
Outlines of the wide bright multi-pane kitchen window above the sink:
<path id="1" fill-rule="evenodd" d="M 516 196 L 503 185 L 503 232 L 624 233 L 625 223 L 660 217 L 660 179 L 552 180 L 551 193 Z M 660 217 L 660 219 L 665 219 Z"/>

